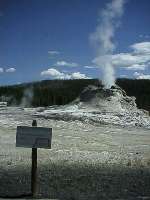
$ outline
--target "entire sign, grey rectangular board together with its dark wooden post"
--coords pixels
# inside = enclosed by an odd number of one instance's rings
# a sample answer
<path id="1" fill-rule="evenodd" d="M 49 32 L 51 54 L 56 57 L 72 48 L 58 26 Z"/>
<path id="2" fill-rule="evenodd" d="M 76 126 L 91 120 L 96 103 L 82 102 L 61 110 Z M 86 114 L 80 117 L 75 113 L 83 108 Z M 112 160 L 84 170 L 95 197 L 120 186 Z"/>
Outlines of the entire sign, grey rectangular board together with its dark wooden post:
<path id="1" fill-rule="evenodd" d="M 17 126 L 16 147 L 32 148 L 31 192 L 37 195 L 37 148 L 51 148 L 52 128 L 37 127 L 33 120 L 32 127 Z"/>

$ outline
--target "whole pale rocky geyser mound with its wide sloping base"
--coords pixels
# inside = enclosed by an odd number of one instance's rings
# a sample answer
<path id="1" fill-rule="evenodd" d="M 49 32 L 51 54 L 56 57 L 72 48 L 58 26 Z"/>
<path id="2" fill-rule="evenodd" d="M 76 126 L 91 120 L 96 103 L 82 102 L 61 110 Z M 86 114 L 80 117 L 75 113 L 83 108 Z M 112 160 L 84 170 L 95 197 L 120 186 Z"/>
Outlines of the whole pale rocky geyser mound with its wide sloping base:
<path id="1" fill-rule="evenodd" d="M 135 97 L 127 96 L 118 86 L 88 86 L 72 103 L 51 106 L 35 113 L 36 117 L 63 121 L 81 121 L 93 125 L 150 127 L 150 118 L 136 106 Z"/>

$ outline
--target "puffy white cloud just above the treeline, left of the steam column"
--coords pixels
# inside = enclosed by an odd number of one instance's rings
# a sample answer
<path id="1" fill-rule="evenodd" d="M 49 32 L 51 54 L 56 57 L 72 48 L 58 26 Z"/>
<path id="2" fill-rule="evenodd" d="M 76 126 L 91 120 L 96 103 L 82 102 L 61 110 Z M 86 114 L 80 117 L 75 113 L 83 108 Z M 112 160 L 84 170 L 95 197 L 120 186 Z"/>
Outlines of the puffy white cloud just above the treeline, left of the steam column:
<path id="1" fill-rule="evenodd" d="M 88 79 L 89 78 L 85 74 L 82 74 L 80 72 L 74 72 L 74 73 L 68 74 L 68 73 L 60 72 L 55 68 L 50 68 L 45 71 L 42 71 L 41 76 L 50 76 L 54 79 Z"/>

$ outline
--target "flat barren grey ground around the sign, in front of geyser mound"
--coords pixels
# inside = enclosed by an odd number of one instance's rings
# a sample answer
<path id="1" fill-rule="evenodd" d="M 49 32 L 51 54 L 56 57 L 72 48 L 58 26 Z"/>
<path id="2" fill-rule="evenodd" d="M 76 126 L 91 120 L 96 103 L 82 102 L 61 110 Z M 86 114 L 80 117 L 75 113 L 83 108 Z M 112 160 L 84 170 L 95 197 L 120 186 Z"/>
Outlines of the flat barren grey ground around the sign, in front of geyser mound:
<path id="1" fill-rule="evenodd" d="M 0 196 L 30 193 L 31 149 L 16 148 L 17 125 L 33 110 L 0 111 Z M 38 149 L 38 197 L 150 199 L 150 130 L 37 119 L 52 127 L 52 149 Z"/>

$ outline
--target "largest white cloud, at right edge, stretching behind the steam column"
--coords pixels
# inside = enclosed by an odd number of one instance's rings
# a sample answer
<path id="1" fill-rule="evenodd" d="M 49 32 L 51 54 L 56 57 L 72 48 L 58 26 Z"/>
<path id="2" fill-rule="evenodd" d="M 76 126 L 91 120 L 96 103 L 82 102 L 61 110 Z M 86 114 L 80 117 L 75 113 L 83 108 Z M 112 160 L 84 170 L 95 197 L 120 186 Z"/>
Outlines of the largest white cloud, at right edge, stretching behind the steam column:
<path id="1" fill-rule="evenodd" d="M 100 56 L 94 63 L 104 63 L 110 60 L 114 67 L 127 70 L 145 70 L 150 66 L 150 42 L 135 43 L 130 46 L 131 52 Z"/>

